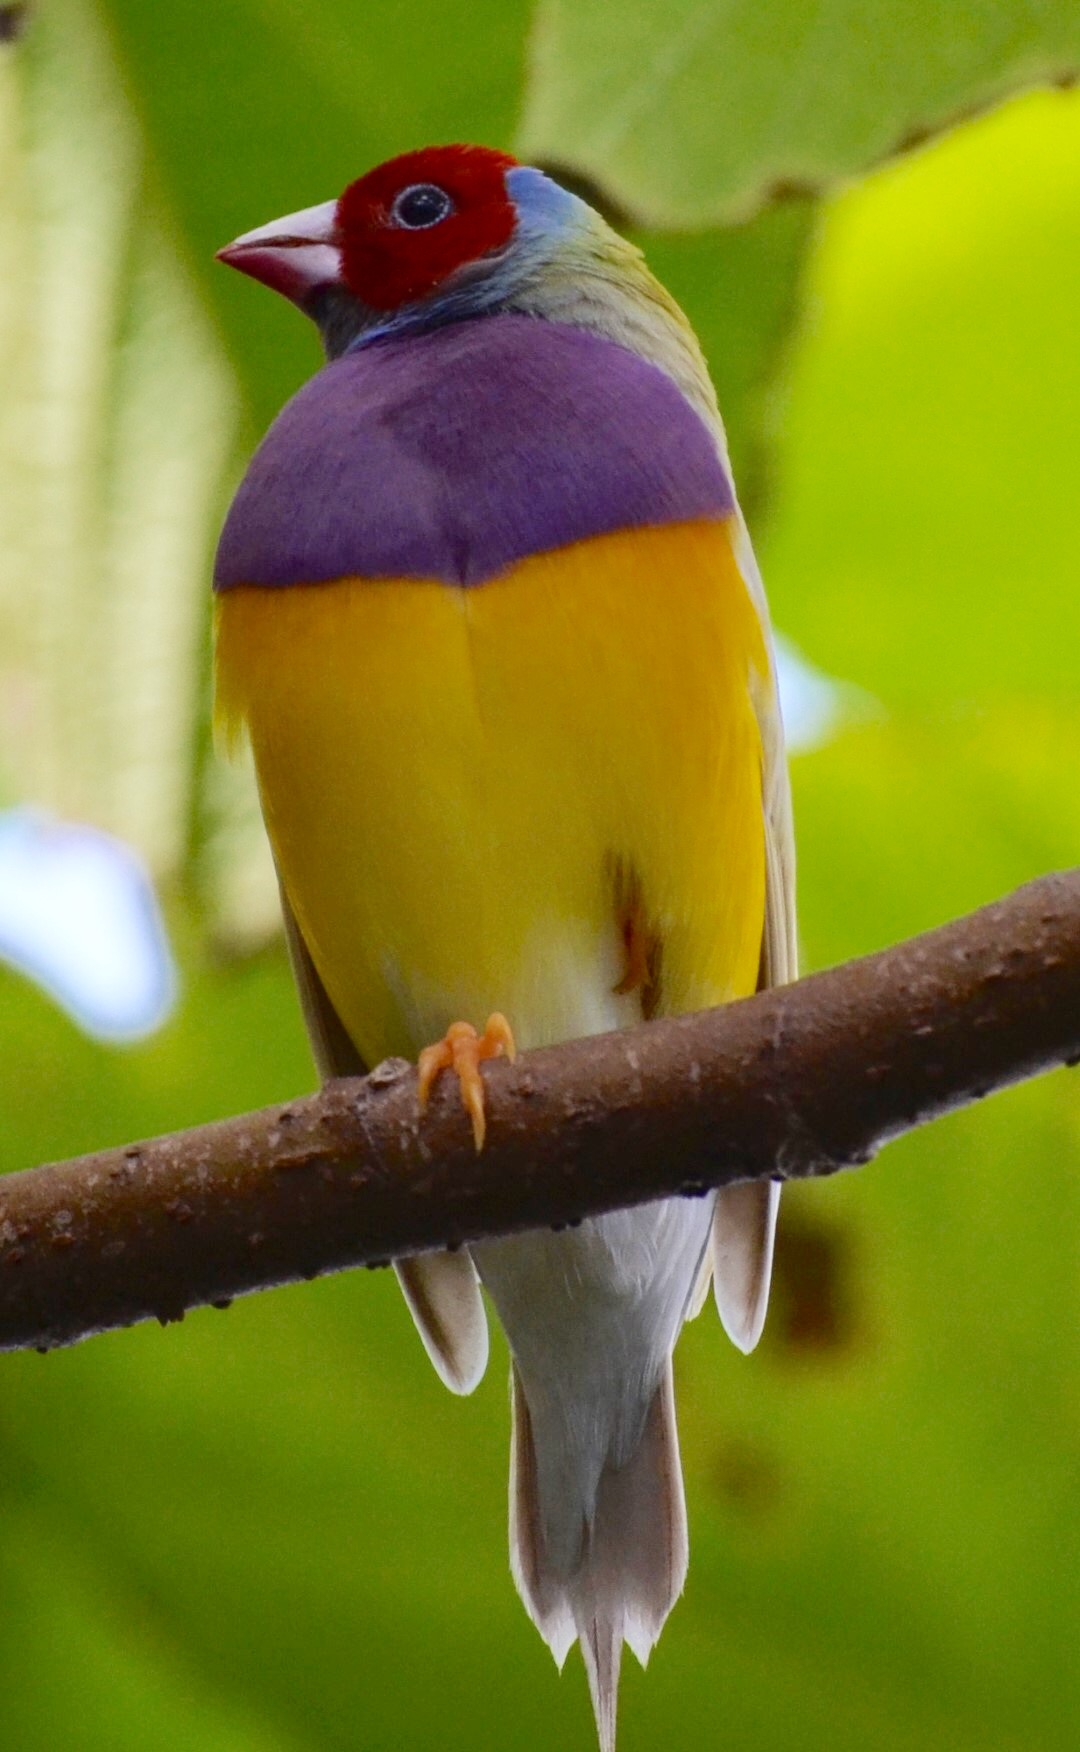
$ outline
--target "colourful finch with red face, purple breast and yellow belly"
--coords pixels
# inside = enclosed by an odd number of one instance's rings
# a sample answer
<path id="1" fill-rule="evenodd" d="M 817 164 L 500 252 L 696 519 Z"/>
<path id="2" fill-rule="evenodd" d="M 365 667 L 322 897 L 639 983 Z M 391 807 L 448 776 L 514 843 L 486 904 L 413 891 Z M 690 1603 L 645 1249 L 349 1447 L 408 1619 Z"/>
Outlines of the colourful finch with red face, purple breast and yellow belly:
<path id="1" fill-rule="evenodd" d="M 484 1144 L 486 1060 L 796 974 L 770 617 L 694 331 L 636 245 L 484 145 L 400 154 L 221 261 L 326 363 L 216 559 L 216 717 L 247 738 L 324 1077 L 419 1062 Z M 452 1088 L 452 1084 L 451 1084 Z M 442 1381 L 512 1358 L 510 1559 L 601 1752 L 622 1647 L 682 1591 L 671 1353 L 710 1281 L 764 1321 L 778 1184 L 396 1263 Z"/>

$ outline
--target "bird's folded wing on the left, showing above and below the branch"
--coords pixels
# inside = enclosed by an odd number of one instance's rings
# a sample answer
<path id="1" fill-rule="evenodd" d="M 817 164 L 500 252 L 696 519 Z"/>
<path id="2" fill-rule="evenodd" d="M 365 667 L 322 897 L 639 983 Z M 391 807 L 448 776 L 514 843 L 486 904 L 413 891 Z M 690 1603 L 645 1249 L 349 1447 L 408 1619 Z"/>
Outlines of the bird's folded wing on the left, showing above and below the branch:
<path id="1" fill-rule="evenodd" d="M 281 880 L 279 887 L 293 978 L 319 1076 L 363 1076 L 368 1067 L 326 995 Z M 487 1316 L 468 1253 L 421 1253 L 394 1260 L 394 1272 L 438 1377 L 451 1393 L 472 1393 L 487 1367 Z"/>

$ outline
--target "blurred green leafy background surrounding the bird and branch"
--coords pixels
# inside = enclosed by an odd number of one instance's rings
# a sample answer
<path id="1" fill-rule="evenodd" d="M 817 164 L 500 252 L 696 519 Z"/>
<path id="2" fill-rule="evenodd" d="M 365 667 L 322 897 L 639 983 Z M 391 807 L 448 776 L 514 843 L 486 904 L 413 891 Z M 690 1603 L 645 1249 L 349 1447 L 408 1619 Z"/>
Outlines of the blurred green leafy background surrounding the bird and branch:
<path id="1" fill-rule="evenodd" d="M 1076 862 L 1069 0 L 42 0 L 0 39 L 0 1170 L 312 1086 L 205 580 L 317 349 L 212 251 L 409 145 L 561 166 L 705 340 L 806 967 Z M 794 1188 L 756 1356 L 687 1330 L 691 1577 L 624 1752 L 1078 1743 L 1076 1095 Z M 4 1358 L 2 1743 L 591 1747 L 507 1573 L 500 1344 L 456 1402 L 352 1274 Z"/>

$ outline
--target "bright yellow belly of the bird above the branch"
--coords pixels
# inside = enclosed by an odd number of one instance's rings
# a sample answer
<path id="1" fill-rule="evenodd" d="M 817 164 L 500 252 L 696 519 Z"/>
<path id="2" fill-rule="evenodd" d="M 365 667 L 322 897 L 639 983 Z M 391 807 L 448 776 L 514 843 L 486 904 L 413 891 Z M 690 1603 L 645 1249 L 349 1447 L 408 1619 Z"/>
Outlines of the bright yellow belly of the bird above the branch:
<path id="1" fill-rule="evenodd" d="M 219 718 L 247 725 L 286 892 L 368 1063 L 491 1009 L 521 1046 L 635 1020 L 614 871 L 661 937 L 663 1011 L 754 990 L 764 664 L 719 524 L 472 589 L 224 592 Z"/>

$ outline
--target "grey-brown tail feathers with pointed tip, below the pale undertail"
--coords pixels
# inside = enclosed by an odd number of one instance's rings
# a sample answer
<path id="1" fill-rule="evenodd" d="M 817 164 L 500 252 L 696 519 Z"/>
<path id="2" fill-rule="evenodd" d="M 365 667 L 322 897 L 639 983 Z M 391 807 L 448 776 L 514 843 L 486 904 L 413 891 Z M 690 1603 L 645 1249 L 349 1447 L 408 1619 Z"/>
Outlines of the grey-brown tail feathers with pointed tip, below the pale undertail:
<path id="1" fill-rule="evenodd" d="M 510 1563 L 536 1629 L 559 1666 L 580 1640 L 601 1752 L 615 1752 L 622 1643 L 642 1666 L 682 1593 L 687 1566 L 686 1501 L 668 1360 L 642 1438 L 622 1466 L 605 1466 L 593 1505 L 544 1503 L 533 1421 L 514 1368 L 510 1449 Z M 577 1554 L 566 1563 L 566 1526 Z"/>

